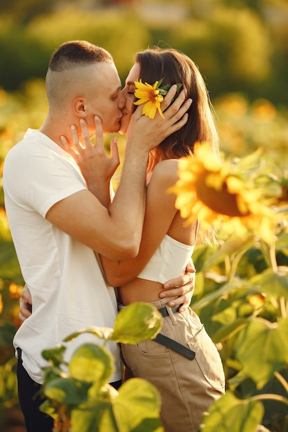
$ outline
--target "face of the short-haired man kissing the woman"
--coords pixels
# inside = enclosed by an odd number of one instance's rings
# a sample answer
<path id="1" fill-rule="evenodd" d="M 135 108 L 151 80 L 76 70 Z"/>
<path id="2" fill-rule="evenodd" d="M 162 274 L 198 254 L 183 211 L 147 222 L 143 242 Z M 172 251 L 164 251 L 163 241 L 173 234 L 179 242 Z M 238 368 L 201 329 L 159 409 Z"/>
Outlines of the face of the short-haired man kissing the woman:
<path id="1" fill-rule="evenodd" d="M 122 119 L 125 96 L 121 92 L 121 81 L 114 63 L 97 63 L 95 79 L 91 81 L 88 100 L 88 127 L 95 129 L 94 116 L 102 119 L 103 132 L 118 132 Z"/>

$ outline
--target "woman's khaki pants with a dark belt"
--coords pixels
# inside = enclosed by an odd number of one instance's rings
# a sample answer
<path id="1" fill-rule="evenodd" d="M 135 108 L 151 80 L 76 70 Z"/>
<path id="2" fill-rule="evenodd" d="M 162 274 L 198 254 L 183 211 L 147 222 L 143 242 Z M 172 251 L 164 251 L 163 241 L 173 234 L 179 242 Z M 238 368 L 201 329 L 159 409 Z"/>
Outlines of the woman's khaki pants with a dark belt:
<path id="1" fill-rule="evenodd" d="M 151 303 L 157 309 L 167 300 Z M 121 305 L 119 305 L 121 308 Z M 162 399 L 161 419 L 165 432 L 196 432 L 202 414 L 224 394 L 224 371 L 217 348 L 191 308 L 173 313 L 166 306 L 160 331 L 195 352 L 194 360 L 153 340 L 122 344 L 125 379 L 141 377 L 151 382 Z"/>

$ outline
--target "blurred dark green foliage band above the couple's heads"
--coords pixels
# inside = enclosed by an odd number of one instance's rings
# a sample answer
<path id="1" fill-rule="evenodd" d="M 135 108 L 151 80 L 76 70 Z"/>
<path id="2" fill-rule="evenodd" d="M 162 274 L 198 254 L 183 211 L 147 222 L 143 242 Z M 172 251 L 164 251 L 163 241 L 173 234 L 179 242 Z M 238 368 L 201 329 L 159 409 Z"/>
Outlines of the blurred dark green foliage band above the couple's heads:
<path id="1" fill-rule="evenodd" d="M 0 84 L 16 90 L 43 78 L 52 50 L 68 39 L 104 46 L 125 78 L 137 50 L 184 51 L 211 97 L 244 92 L 287 104 L 285 0 L 0 1 Z"/>

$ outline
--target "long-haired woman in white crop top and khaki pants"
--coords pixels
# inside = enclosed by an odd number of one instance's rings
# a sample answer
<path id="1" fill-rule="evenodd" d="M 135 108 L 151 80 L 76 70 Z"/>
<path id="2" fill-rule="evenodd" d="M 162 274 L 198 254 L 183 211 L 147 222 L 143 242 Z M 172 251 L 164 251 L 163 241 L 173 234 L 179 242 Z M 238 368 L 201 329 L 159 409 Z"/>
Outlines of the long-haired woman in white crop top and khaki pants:
<path id="1" fill-rule="evenodd" d="M 164 317 L 159 340 L 122 345 L 128 375 L 142 377 L 160 391 L 166 432 L 193 432 L 202 422 L 202 413 L 224 393 L 224 373 L 215 345 L 191 308 L 179 313 L 177 308 L 167 306 L 166 299 L 159 300 L 164 282 L 184 271 L 198 235 L 198 223 L 184 225 L 175 208 L 175 195 L 167 189 L 177 181 L 177 159 L 193 155 L 195 141 L 209 141 L 211 151 L 218 155 L 218 134 L 198 68 L 186 55 L 159 48 L 144 50 L 135 57 L 122 90 L 126 107 L 120 132 L 126 133 L 133 112 L 135 81 L 153 85 L 162 78 L 162 86 L 181 83 L 186 88 L 187 97 L 193 99 L 189 119 L 151 151 L 146 215 L 137 257 L 122 262 L 106 257 L 101 260 L 109 284 L 118 287 L 119 308 L 149 302 Z M 82 171 L 87 177 L 88 173 Z M 199 241 L 202 239 L 198 237 Z"/>

